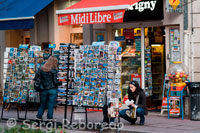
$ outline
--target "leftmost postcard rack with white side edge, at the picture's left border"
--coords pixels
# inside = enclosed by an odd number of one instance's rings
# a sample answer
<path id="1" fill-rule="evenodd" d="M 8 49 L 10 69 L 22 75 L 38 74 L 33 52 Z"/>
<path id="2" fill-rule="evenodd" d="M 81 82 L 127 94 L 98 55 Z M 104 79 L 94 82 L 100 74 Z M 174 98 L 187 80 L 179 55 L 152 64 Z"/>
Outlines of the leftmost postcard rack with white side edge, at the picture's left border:
<path id="1" fill-rule="evenodd" d="M 15 105 L 19 118 L 18 106 L 26 102 L 29 75 L 27 68 L 28 53 L 26 49 L 6 48 L 4 53 L 4 91 L 1 120 L 4 110 Z"/>

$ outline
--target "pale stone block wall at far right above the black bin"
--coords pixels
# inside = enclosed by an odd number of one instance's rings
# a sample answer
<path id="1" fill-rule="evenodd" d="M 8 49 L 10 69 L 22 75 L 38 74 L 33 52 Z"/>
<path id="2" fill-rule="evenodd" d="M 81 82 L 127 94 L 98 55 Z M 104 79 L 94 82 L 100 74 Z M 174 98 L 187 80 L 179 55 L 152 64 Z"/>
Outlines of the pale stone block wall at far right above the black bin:
<path id="1" fill-rule="evenodd" d="M 188 0 L 190 81 L 200 81 L 200 1 Z"/>

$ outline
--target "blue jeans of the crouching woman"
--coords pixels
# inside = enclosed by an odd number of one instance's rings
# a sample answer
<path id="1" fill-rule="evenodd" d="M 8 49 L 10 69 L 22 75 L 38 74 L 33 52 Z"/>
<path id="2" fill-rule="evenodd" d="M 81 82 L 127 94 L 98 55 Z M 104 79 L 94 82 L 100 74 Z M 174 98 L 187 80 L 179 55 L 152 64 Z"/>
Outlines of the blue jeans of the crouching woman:
<path id="1" fill-rule="evenodd" d="M 126 110 L 129 110 L 129 109 L 121 110 L 119 112 L 119 116 L 122 117 L 122 118 L 124 118 L 125 120 L 127 120 L 129 122 L 133 122 L 134 119 L 132 119 L 132 118 L 130 118 L 130 117 L 128 117 L 126 115 Z M 144 118 L 144 112 L 145 112 L 145 110 L 143 108 L 137 108 L 136 109 L 136 115 L 140 117 L 140 123 L 144 123 L 144 120 L 145 120 L 145 118 Z"/>

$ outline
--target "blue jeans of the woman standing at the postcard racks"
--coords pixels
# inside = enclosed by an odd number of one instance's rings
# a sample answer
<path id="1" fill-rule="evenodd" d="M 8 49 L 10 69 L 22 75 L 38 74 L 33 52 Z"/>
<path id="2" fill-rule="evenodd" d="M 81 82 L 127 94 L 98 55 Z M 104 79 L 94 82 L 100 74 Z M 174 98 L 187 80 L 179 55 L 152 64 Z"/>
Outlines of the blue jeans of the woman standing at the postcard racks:
<path id="1" fill-rule="evenodd" d="M 56 104 L 57 89 L 49 89 L 40 92 L 40 107 L 38 109 L 37 118 L 42 119 L 44 110 L 48 105 L 47 119 L 53 119 L 53 110 Z"/>

